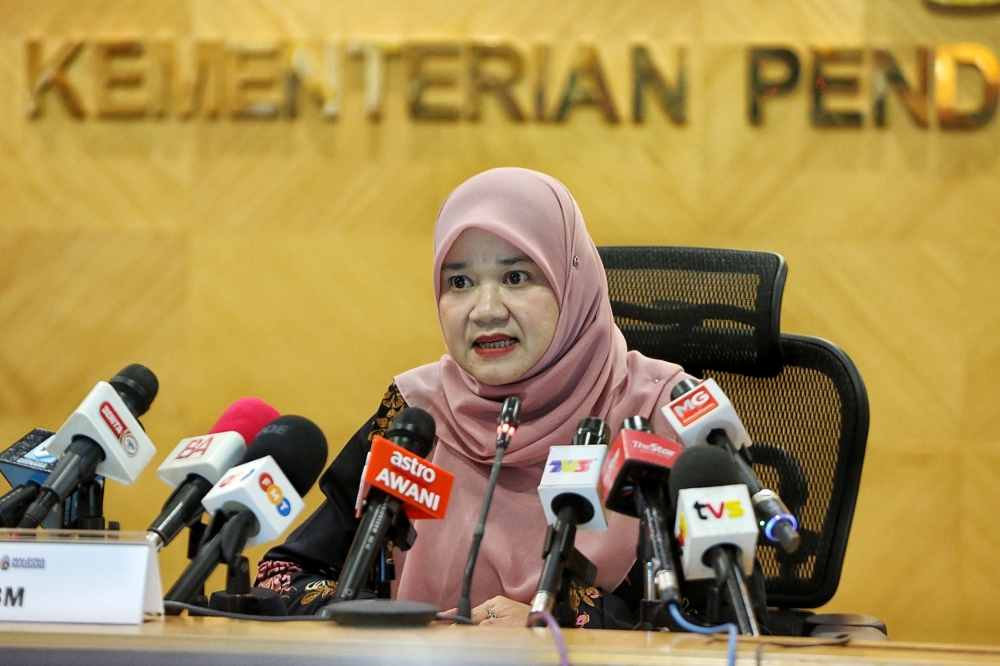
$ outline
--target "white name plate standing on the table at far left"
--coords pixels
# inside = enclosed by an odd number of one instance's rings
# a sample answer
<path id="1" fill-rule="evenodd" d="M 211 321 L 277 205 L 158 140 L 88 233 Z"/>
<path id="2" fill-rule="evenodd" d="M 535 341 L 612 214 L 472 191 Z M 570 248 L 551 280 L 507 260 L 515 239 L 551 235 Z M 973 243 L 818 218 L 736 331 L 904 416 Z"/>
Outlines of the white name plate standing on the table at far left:
<path id="1" fill-rule="evenodd" d="M 163 614 L 142 532 L 0 530 L 0 622 L 141 624 Z"/>

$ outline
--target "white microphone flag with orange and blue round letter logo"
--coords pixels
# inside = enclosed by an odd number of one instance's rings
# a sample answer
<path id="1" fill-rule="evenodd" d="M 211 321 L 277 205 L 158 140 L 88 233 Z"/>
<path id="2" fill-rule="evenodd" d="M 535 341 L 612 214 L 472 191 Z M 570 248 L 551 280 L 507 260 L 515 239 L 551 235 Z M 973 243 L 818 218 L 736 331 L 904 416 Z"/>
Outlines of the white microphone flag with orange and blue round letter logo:
<path id="1" fill-rule="evenodd" d="M 271 456 L 229 470 L 201 504 L 209 513 L 218 509 L 250 509 L 260 523 L 260 531 L 247 541 L 247 546 L 277 539 L 305 508 L 292 482 Z"/>

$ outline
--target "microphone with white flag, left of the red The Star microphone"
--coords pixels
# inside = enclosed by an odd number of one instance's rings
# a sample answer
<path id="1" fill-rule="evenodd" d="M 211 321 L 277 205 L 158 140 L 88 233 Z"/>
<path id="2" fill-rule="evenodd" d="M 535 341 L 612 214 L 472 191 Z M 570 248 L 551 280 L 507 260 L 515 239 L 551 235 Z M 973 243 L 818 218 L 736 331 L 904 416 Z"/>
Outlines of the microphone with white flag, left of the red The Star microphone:
<path id="1" fill-rule="evenodd" d="M 601 502 L 601 467 L 608 452 L 604 421 L 580 421 L 573 446 L 553 446 L 545 460 L 538 496 L 548 520 L 542 575 L 531 600 L 531 613 L 551 613 L 566 588 L 565 578 L 594 584 L 597 568 L 575 546 L 576 531 L 606 530 L 608 517 Z"/>

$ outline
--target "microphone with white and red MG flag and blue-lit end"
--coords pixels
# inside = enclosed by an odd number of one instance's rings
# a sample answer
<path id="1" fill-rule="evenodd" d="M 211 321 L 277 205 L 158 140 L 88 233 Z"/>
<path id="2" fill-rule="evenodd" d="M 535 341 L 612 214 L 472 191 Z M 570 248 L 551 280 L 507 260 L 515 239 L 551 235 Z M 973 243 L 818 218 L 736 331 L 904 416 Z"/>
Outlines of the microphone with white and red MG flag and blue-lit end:
<path id="1" fill-rule="evenodd" d="M 773 490 L 764 488 L 746 456 L 753 442 L 733 403 L 714 379 L 698 383 L 692 379 L 679 382 L 670 391 L 671 402 L 663 414 L 687 447 L 708 443 L 725 449 L 747 487 L 761 533 L 786 553 L 794 553 L 802 542 L 798 520 Z"/>

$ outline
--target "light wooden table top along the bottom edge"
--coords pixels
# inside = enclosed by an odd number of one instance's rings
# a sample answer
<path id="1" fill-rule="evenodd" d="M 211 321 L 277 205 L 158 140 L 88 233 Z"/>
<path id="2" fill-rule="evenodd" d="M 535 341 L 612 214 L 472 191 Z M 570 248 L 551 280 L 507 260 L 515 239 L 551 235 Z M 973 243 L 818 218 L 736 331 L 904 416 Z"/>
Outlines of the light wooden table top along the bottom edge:
<path id="1" fill-rule="evenodd" d="M 571 663 L 723 664 L 726 642 L 695 634 L 564 630 Z M 740 638 L 737 660 L 761 664 L 1000 664 L 1000 647 L 808 638 Z M 326 622 L 167 617 L 139 626 L 0 623 L 0 664 L 558 664 L 548 629 L 441 626 L 359 629 Z"/>

